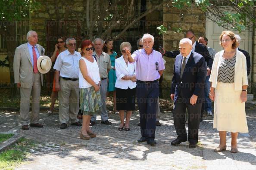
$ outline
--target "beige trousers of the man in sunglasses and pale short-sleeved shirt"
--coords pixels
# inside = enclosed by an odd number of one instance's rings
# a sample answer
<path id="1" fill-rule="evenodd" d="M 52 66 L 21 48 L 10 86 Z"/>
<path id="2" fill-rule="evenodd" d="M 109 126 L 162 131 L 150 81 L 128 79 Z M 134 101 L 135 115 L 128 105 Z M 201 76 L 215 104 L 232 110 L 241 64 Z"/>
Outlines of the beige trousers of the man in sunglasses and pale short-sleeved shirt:
<path id="1" fill-rule="evenodd" d="M 68 124 L 70 119 L 71 123 L 75 123 L 79 111 L 79 82 L 60 78 L 59 83 L 59 121 Z"/>

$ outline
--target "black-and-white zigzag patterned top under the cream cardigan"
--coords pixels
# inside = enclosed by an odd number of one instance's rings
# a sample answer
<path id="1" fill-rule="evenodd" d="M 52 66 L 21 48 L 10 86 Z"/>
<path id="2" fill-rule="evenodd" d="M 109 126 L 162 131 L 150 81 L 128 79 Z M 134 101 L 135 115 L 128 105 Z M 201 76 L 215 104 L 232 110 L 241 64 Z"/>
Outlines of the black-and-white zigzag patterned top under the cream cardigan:
<path id="1" fill-rule="evenodd" d="M 234 66 L 236 64 L 236 58 L 237 54 L 231 59 L 225 59 L 222 56 L 218 72 L 218 82 L 234 83 Z"/>

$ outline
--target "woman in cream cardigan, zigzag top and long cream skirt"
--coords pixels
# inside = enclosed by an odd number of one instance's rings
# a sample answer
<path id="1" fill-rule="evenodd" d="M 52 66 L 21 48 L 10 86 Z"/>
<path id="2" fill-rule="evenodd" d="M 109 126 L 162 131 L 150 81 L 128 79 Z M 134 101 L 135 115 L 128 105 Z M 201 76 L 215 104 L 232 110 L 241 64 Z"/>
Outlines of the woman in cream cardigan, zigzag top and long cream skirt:
<path id="1" fill-rule="evenodd" d="M 236 153 L 238 132 L 247 133 L 247 66 L 244 54 L 237 50 L 234 33 L 223 31 L 220 44 L 224 50 L 215 55 L 209 97 L 214 100 L 213 128 L 219 131 L 220 144 L 214 152 L 226 150 L 226 131 L 231 132 L 231 152 Z"/>

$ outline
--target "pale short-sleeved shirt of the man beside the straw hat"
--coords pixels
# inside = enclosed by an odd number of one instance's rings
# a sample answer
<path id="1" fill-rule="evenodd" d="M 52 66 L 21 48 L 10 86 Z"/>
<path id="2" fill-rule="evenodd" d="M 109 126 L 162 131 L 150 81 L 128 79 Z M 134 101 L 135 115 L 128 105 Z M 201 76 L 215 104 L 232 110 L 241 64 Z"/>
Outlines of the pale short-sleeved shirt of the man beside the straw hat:
<path id="1" fill-rule="evenodd" d="M 79 78 L 79 52 L 74 52 L 72 55 L 69 50 L 65 50 L 58 55 L 53 69 L 59 71 L 59 76 L 78 79 Z"/>

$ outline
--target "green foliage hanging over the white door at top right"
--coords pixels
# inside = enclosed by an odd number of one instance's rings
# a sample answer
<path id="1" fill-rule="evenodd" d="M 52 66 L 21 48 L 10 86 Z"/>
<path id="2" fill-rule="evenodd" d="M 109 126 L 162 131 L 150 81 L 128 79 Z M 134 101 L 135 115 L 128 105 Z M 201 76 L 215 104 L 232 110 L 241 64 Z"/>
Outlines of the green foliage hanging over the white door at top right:
<path id="1" fill-rule="evenodd" d="M 180 9 L 181 14 L 184 9 L 190 9 L 192 13 L 193 9 L 200 9 L 219 26 L 239 32 L 250 29 L 255 23 L 255 5 L 256 0 L 172 0 L 172 6 Z M 225 10 L 222 11 L 223 6 Z M 181 28 L 172 29 L 179 33 L 182 31 Z"/>

